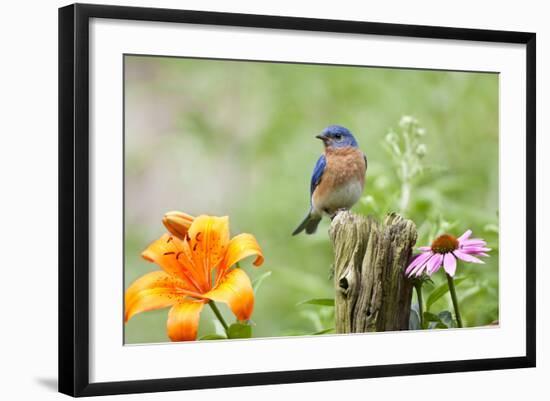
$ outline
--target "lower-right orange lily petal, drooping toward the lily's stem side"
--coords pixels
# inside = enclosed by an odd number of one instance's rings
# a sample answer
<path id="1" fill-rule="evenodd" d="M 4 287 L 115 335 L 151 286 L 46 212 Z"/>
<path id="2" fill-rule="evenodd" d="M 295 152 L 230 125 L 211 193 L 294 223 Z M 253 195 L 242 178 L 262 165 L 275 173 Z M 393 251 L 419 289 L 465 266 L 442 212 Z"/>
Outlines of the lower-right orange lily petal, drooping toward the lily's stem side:
<path id="1" fill-rule="evenodd" d="M 221 283 L 204 297 L 226 303 L 238 320 L 248 320 L 254 310 L 254 290 L 248 275 L 242 269 L 233 269 Z"/>

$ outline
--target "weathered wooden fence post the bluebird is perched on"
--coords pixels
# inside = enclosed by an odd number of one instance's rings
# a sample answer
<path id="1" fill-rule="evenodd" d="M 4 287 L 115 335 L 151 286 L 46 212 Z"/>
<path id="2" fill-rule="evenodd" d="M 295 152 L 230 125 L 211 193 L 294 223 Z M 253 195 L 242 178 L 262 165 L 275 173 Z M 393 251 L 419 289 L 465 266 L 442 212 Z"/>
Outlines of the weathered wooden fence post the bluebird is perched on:
<path id="1" fill-rule="evenodd" d="M 404 269 L 416 243 L 416 226 L 397 214 L 384 224 L 340 212 L 332 221 L 336 332 L 407 330 L 412 284 Z"/>

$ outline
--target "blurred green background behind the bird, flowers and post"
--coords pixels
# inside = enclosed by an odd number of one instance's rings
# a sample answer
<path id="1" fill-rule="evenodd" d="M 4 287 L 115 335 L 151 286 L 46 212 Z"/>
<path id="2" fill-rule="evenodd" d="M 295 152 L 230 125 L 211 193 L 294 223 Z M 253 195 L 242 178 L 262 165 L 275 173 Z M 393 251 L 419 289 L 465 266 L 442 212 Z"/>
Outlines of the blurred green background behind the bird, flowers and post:
<path id="1" fill-rule="evenodd" d="M 466 326 L 497 320 L 498 85 L 490 73 L 126 56 L 125 288 L 157 270 L 140 253 L 164 232 L 166 211 L 228 215 L 232 234 L 254 234 L 264 251 L 261 268 L 242 267 L 252 279 L 272 272 L 256 297 L 253 336 L 332 327 L 331 308 L 297 306 L 333 297 L 327 219 L 315 235 L 291 236 L 309 208 L 322 152 L 315 135 L 331 124 L 354 133 L 369 161 L 354 210 L 382 217 L 398 210 L 401 190 L 386 136 L 410 115 L 425 129 L 426 155 L 406 217 L 419 246 L 468 228 L 488 241 L 485 265 L 459 264 L 467 279 L 457 292 Z M 448 294 L 432 306 L 444 309 L 452 310 Z M 168 341 L 167 313 L 133 317 L 125 342 Z M 199 335 L 213 332 L 213 321 L 205 308 Z"/>

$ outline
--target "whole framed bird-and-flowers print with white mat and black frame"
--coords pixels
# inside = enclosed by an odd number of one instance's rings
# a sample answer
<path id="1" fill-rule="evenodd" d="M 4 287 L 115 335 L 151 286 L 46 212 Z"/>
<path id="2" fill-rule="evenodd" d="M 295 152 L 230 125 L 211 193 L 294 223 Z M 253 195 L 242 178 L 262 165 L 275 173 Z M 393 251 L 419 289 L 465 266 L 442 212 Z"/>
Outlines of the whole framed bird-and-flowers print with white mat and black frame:
<path id="1" fill-rule="evenodd" d="M 61 392 L 535 366 L 534 33 L 70 5 L 59 113 Z"/>

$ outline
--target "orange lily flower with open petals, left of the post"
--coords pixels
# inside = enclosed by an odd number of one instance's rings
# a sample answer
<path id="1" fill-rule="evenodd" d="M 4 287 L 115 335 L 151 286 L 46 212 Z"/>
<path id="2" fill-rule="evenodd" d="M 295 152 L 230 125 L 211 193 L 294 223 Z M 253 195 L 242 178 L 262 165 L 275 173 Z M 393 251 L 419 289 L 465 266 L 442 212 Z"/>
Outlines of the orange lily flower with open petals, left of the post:
<path id="1" fill-rule="evenodd" d="M 264 257 L 256 238 L 239 234 L 229 238 L 229 218 L 193 217 L 169 212 L 163 219 L 171 234 L 164 234 L 142 253 L 162 270 L 147 273 L 126 290 L 125 322 L 137 313 L 171 306 L 168 337 L 172 341 L 197 338 L 200 313 L 210 301 L 226 303 L 239 321 L 250 319 L 254 291 L 238 261 Z"/>

